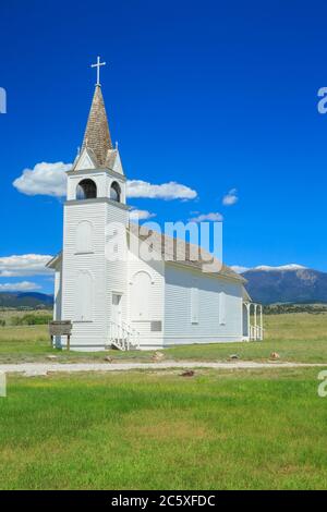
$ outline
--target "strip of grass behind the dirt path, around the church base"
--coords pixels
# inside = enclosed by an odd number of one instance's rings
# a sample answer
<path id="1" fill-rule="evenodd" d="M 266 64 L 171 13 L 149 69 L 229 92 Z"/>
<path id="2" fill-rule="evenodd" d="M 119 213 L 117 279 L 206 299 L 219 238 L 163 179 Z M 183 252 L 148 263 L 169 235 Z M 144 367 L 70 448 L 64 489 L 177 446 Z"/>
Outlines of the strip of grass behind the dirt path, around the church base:
<path id="1" fill-rule="evenodd" d="M 237 353 L 242 359 L 267 361 L 278 352 L 281 361 L 327 363 L 327 314 L 267 315 L 264 342 L 186 345 L 165 350 L 166 358 L 216 361 Z M 150 361 L 152 352 L 68 353 L 56 351 L 60 362 L 114 359 Z M 53 354 L 47 326 L 0 328 L 0 363 L 46 361 Z"/>

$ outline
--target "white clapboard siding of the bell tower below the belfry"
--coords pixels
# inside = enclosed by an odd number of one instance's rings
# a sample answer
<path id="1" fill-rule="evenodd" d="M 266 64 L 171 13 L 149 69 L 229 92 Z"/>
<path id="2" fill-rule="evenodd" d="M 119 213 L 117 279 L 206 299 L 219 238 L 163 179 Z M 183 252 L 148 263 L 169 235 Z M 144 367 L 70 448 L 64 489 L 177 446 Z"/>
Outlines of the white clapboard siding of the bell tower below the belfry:
<path id="1" fill-rule="evenodd" d="M 108 342 L 111 291 L 125 295 L 126 264 L 108 261 L 105 234 L 109 220 L 124 222 L 125 217 L 107 202 L 65 205 L 62 318 L 73 321 L 72 345 L 104 349 Z M 82 242 L 82 235 L 88 240 Z M 87 297 L 81 297 L 86 289 Z"/>

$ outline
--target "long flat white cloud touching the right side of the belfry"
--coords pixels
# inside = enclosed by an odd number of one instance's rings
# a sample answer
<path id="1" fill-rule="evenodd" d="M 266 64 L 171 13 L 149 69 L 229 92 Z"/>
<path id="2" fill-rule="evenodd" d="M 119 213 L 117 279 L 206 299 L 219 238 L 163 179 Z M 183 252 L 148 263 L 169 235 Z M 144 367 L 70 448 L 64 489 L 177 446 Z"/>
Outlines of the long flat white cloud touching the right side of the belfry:
<path id="1" fill-rule="evenodd" d="M 144 197 L 149 199 L 195 199 L 197 193 L 186 185 L 181 185 L 173 181 L 153 185 L 142 180 L 128 181 L 129 197 Z"/>

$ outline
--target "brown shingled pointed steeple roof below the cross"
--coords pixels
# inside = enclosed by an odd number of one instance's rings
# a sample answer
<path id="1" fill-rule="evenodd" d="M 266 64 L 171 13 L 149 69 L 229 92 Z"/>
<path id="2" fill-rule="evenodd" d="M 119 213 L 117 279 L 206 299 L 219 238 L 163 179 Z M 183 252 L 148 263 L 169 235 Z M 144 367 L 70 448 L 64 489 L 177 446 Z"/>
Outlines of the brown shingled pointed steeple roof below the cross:
<path id="1" fill-rule="evenodd" d="M 112 143 L 101 86 L 98 84 L 88 114 L 82 150 L 84 148 L 92 151 L 98 167 L 106 167 L 108 151 L 112 149 Z"/>

